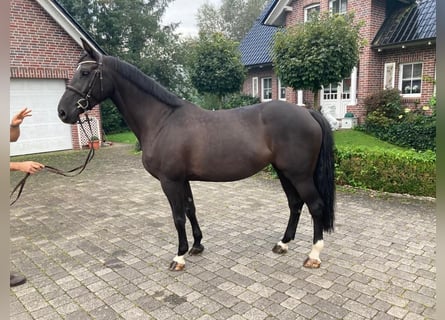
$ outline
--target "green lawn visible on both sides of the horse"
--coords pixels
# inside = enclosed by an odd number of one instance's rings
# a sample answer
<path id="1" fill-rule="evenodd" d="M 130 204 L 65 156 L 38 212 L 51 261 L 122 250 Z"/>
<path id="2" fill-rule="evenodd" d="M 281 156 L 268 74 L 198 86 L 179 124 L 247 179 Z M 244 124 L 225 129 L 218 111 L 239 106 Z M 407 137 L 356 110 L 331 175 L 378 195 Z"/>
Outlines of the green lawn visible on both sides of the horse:
<path id="1" fill-rule="evenodd" d="M 135 144 L 136 137 L 133 132 L 122 132 L 107 135 L 107 140 L 112 142 Z M 369 148 L 395 148 L 404 150 L 403 148 L 394 146 L 390 143 L 381 141 L 373 136 L 356 130 L 337 130 L 334 132 L 334 140 L 337 146 L 366 146 Z"/>

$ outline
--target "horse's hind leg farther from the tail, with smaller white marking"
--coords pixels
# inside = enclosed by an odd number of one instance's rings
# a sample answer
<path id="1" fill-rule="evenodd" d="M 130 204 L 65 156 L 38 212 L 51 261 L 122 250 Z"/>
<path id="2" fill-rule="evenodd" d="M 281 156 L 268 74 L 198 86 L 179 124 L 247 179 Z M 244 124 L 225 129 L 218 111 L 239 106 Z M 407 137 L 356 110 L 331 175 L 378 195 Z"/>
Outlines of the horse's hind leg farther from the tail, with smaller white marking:
<path id="1" fill-rule="evenodd" d="M 272 251 L 278 254 L 286 253 L 288 250 L 288 243 L 295 239 L 295 234 L 297 231 L 298 221 L 301 215 L 301 208 L 304 202 L 301 200 L 297 190 L 292 185 L 292 183 L 287 179 L 284 174 L 275 168 L 275 171 L 280 178 L 281 185 L 283 187 L 284 193 L 286 194 L 287 201 L 290 209 L 289 222 L 287 224 L 286 232 L 284 233 L 283 239 L 278 242 Z"/>

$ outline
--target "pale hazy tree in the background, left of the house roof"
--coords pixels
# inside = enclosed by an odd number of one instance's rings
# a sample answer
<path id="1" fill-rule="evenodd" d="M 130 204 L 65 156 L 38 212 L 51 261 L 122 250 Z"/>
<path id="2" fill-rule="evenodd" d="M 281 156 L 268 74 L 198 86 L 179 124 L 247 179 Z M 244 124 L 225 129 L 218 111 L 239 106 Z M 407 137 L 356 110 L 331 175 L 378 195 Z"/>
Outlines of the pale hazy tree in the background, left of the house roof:
<path id="1" fill-rule="evenodd" d="M 267 1 L 223 0 L 219 8 L 205 3 L 198 9 L 199 31 L 207 34 L 221 32 L 232 40 L 241 41 Z"/>

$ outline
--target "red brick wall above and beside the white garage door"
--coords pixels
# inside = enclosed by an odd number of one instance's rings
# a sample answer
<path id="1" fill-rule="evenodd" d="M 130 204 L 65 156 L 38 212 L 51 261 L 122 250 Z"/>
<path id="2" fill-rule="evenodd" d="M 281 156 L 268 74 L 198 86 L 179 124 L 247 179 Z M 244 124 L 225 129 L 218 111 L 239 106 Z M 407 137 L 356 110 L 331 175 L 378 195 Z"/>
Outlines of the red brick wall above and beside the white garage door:
<path id="1" fill-rule="evenodd" d="M 35 0 L 10 0 L 10 78 L 73 76 L 82 48 Z M 100 119 L 98 107 L 91 115 Z M 80 148 L 72 126 L 74 148 Z"/>

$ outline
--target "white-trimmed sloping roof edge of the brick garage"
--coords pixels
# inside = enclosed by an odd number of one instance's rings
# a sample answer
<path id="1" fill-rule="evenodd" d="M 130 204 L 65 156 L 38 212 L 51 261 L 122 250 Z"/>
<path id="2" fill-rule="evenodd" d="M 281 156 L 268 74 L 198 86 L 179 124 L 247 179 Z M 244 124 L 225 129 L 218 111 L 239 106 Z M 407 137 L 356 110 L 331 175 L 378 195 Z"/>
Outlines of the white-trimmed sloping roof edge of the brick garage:
<path id="1" fill-rule="evenodd" d="M 77 23 L 77 21 L 65 10 L 57 0 L 36 0 L 40 6 L 73 38 L 74 41 L 82 46 L 83 38 L 96 51 L 106 54 L 106 52 L 97 44 L 90 34 Z"/>

